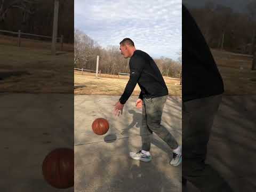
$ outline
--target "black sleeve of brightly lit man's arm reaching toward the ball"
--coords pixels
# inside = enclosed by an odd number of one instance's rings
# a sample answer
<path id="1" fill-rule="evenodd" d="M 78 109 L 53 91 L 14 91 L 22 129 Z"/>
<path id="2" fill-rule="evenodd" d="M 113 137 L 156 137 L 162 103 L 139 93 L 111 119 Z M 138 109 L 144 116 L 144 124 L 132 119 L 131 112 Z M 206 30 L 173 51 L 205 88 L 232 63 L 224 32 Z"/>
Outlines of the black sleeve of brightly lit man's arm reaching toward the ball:
<path id="1" fill-rule="evenodd" d="M 140 78 L 143 67 L 145 66 L 145 60 L 140 56 L 134 55 L 134 57 L 130 59 L 129 65 L 130 65 L 130 79 L 125 87 L 124 93 L 119 99 L 119 101 L 122 104 L 124 104 L 131 96 Z"/>

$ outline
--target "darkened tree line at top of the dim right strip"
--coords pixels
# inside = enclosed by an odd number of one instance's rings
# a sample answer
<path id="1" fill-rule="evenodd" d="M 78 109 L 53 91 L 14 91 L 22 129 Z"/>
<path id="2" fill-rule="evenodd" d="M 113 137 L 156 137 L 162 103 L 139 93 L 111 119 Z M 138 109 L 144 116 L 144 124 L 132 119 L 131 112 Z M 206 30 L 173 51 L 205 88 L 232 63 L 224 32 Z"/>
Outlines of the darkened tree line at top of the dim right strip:
<path id="1" fill-rule="evenodd" d="M 188 8 L 210 47 L 253 55 L 256 1 L 251 1 L 246 7 L 244 12 L 235 12 L 231 7 L 208 2 L 201 8 Z"/>

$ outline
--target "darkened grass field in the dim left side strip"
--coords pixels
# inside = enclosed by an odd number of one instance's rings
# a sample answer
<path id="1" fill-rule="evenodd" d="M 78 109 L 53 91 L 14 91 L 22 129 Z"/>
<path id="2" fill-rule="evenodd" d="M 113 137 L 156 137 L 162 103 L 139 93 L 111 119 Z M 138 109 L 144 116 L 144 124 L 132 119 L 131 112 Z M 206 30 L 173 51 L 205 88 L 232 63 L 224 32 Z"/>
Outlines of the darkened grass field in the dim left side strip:
<path id="1" fill-rule="evenodd" d="M 73 93 L 72 52 L 0 44 L 0 92 Z"/>

